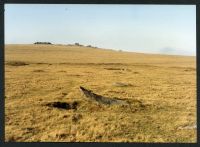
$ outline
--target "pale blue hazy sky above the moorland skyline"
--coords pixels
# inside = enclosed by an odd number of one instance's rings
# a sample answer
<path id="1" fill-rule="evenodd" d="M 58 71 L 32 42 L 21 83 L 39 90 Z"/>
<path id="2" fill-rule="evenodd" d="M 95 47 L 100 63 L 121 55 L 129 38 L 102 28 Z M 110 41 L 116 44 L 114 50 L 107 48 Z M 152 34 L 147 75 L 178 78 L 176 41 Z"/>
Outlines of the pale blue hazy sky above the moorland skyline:
<path id="1" fill-rule="evenodd" d="M 6 4 L 5 44 L 37 41 L 195 56 L 196 6 Z"/>

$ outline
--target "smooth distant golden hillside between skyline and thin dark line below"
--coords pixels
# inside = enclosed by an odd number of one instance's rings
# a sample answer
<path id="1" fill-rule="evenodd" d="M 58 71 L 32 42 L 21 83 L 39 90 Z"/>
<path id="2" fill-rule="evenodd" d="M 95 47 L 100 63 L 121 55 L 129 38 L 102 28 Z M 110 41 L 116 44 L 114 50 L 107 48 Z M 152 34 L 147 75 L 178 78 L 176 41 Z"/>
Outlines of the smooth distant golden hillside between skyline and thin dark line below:
<path id="1" fill-rule="evenodd" d="M 132 63 L 192 66 L 195 57 L 119 52 L 111 49 L 68 45 L 7 45 L 6 61 L 31 63 Z"/>

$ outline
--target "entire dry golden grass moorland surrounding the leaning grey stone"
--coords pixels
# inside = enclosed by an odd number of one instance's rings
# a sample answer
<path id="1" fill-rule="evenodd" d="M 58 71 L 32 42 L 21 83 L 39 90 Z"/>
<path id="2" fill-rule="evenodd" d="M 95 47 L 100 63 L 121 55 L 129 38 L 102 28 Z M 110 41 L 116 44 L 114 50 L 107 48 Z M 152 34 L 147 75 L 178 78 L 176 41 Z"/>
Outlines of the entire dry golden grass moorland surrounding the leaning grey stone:
<path id="1" fill-rule="evenodd" d="M 195 57 L 64 45 L 6 45 L 5 57 L 6 141 L 197 141 Z M 99 105 L 79 86 L 131 107 Z"/>

